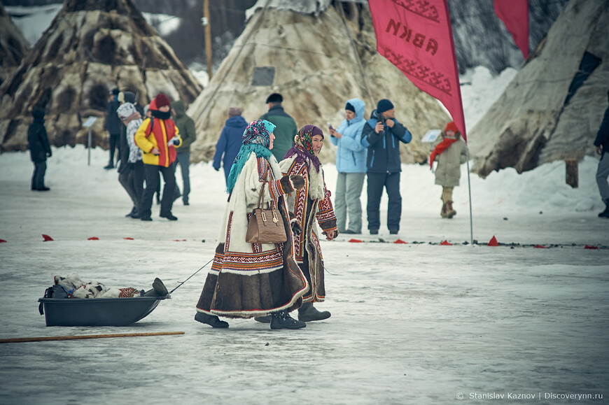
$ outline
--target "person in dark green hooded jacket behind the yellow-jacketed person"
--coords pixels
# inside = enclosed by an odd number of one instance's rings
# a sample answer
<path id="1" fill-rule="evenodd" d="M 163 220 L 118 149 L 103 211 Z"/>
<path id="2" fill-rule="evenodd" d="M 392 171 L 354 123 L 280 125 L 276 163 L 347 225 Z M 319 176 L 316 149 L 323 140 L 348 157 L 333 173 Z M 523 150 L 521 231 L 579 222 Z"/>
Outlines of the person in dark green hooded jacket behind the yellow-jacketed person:
<path id="1" fill-rule="evenodd" d="M 188 194 L 190 194 L 190 144 L 197 140 L 197 132 L 195 130 L 195 121 L 186 115 L 186 108 L 184 102 L 181 100 L 174 101 L 172 103 L 172 112 L 174 114 L 174 121 L 176 127 L 180 131 L 182 138 L 182 145 L 176 148 L 176 162 L 174 164 L 180 164 L 180 170 L 182 172 L 182 201 L 185 206 L 188 203 Z"/>

